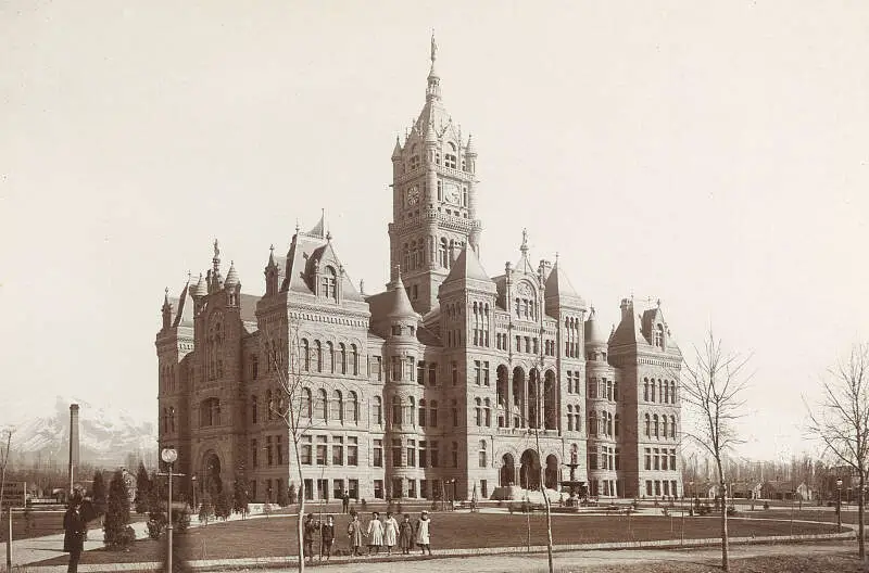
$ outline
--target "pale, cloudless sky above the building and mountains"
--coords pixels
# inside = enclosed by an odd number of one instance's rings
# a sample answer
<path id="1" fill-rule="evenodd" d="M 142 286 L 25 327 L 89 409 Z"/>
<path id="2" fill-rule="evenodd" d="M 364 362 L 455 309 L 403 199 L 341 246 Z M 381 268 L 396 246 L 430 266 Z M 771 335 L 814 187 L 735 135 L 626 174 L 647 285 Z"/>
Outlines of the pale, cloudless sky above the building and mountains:
<path id="1" fill-rule="evenodd" d="M 869 338 L 865 2 L 0 4 L 0 419 L 54 395 L 156 418 L 163 289 L 219 239 L 326 209 L 388 280 L 390 155 L 443 100 L 479 153 L 482 264 L 561 264 L 605 324 L 660 298 L 685 354 L 754 353 L 741 454 L 803 449 L 802 394 Z"/>

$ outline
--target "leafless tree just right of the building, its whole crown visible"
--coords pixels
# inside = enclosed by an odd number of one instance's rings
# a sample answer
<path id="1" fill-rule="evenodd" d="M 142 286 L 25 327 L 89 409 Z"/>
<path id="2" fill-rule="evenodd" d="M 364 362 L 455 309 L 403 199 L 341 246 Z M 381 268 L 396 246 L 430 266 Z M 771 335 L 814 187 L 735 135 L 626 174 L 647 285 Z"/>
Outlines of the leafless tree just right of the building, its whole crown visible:
<path id="1" fill-rule="evenodd" d="M 742 417 L 745 405 L 741 394 L 751 378 L 745 372 L 751 355 L 725 351 L 711 330 L 702 347 L 694 346 L 694 355 L 693 364 L 685 360 L 682 399 L 695 410 L 700 421 L 694 432 L 683 433 L 705 449 L 715 462 L 721 495 L 721 568 L 728 571 L 725 455 L 743 442 L 739 438 L 734 422 Z"/>

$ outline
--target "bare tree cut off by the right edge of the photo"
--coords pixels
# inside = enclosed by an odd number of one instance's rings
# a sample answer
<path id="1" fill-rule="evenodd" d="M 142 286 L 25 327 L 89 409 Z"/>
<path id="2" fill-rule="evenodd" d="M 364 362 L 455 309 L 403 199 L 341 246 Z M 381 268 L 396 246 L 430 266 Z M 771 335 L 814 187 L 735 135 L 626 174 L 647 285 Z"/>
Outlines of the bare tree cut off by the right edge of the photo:
<path id="1" fill-rule="evenodd" d="M 869 344 L 855 344 L 846 359 L 828 370 L 822 397 L 814 408 L 806 404 L 808 431 L 819 437 L 826 454 L 848 466 L 859 479 L 857 495 L 857 551 L 866 560 L 864 512 L 866 472 L 869 462 Z"/>

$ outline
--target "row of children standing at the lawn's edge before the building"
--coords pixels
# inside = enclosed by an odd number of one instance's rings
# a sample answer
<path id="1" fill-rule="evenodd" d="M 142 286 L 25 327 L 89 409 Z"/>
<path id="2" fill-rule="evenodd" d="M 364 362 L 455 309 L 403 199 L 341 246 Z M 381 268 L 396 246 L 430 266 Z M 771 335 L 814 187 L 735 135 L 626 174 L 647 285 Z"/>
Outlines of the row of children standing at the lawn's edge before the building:
<path id="1" fill-rule="evenodd" d="M 335 518 L 328 515 L 326 522 L 314 520 L 314 514 L 308 513 L 303 524 L 304 556 L 308 561 L 314 560 L 314 537 L 319 534 L 320 559 L 328 561 L 335 544 Z M 386 548 L 387 555 L 392 555 L 392 548 L 401 549 L 402 555 L 411 555 L 411 549 L 416 545 L 423 555 L 431 555 L 431 520 L 428 511 L 423 510 L 416 523 L 411 522 L 411 515 L 405 514 L 401 522 L 396 521 L 391 511 L 386 519 L 380 520 L 380 513 L 375 511 L 367 524 L 360 521 L 358 513 L 353 513 L 347 527 L 350 543 L 350 555 L 362 556 L 363 546 L 368 547 L 365 555 L 379 555 Z M 367 543 L 363 543 L 367 539 Z"/>

